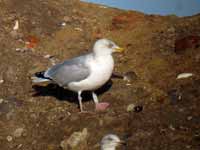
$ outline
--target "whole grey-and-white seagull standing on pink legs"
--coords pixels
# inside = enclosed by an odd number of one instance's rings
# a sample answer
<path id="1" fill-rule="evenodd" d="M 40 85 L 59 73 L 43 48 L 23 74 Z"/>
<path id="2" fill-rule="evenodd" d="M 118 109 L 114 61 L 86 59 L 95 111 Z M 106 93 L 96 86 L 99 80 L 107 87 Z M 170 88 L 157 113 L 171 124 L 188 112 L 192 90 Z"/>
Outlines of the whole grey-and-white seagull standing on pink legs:
<path id="1" fill-rule="evenodd" d="M 99 103 L 95 90 L 110 79 L 114 68 L 112 57 L 114 52 L 123 52 L 123 49 L 111 40 L 99 39 L 94 43 L 91 53 L 56 64 L 46 71 L 36 72 L 32 77 L 32 82 L 52 81 L 61 87 L 77 92 L 81 112 L 84 112 L 81 93 L 91 91 L 95 110 L 105 110 L 109 104 Z"/>

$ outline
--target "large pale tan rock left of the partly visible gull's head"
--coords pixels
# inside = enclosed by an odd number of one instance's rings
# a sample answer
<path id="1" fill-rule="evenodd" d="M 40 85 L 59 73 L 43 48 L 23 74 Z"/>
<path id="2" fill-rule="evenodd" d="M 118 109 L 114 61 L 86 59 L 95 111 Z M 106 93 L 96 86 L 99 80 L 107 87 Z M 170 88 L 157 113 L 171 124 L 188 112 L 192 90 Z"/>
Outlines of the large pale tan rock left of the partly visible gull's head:
<path id="1" fill-rule="evenodd" d="M 87 128 L 84 128 L 82 131 L 74 132 L 68 139 L 61 141 L 60 146 L 63 150 L 75 149 L 80 143 L 86 141 L 88 136 Z"/>

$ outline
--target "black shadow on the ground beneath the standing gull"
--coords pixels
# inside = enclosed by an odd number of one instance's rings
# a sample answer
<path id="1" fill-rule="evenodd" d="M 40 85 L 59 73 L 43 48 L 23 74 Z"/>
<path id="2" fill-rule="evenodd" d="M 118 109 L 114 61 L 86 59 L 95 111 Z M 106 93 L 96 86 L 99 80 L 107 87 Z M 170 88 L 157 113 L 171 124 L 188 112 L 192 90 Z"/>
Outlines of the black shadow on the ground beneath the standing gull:
<path id="1" fill-rule="evenodd" d="M 95 91 L 97 95 L 101 95 L 104 92 L 108 91 L 112 87 L 112 80 L 110 79 L 106 82 L 101 88 Z M 59 101 L 68 101 L 70 103 L 78 104 L 78 94 L 76 92 L 70 91 L 68 89 L 64 89 L 57 84 L 50 83 L 46 86 L 41 85 L 33 85 L 35 93 L 32 95 L 33 97 L 37 96 L 53 96 Z M 81 94 L 83 101 L 90 101 L 92 99 L 92 92 L 84 91 Z"/>

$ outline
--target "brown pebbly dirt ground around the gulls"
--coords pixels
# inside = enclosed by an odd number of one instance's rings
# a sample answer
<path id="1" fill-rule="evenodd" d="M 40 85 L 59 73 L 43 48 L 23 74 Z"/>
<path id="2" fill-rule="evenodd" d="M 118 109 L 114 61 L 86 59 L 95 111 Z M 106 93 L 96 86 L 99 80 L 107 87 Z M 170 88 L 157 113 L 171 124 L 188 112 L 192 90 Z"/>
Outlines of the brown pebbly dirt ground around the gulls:
<path id="1" fill-rule="evenodd" d="M 0 26 L 1 150 L 98 150 L 109 133 L 126 141 L 123 150 L 200 149 L 200 15 L 0 0 Z M 99 38 L 125 48 L 114 55 L 114 74 L 129 79 L 113 76 L 97 91 L 108 110 L 94 112 L 85 92 L 92 113 L 80 114 L 76 93 L 32 84 L 35 72 L 89 52 Z M 177 79 L 181 73 L 192 76 Z"/>

